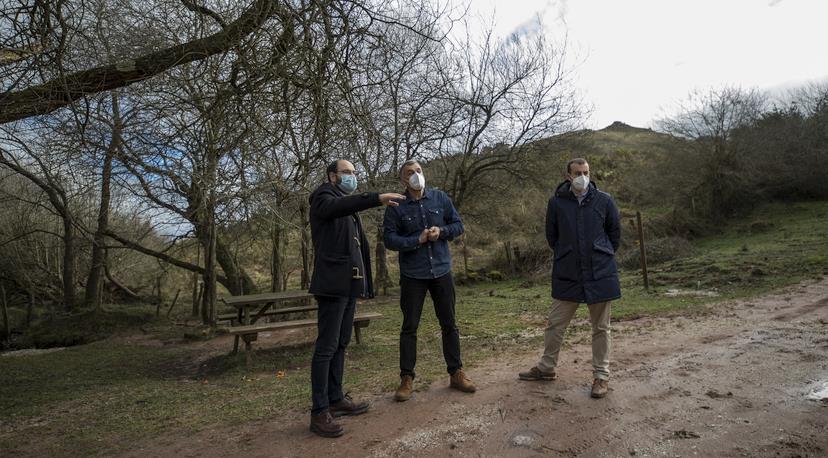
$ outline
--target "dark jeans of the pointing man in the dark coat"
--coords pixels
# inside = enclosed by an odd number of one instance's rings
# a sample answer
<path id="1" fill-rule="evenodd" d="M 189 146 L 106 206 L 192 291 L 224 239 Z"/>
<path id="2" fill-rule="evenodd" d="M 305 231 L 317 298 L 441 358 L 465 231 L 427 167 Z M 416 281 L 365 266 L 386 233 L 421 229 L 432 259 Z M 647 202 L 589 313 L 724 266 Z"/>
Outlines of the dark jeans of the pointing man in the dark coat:
<path id="1" fill-rule="evenodd" d="M 311 360 L 311 413 L 318 414 L 342 399 L 345 348 L 351 341 L 356 298 L 315 296 L 317 312 L 316 348 Z"/>

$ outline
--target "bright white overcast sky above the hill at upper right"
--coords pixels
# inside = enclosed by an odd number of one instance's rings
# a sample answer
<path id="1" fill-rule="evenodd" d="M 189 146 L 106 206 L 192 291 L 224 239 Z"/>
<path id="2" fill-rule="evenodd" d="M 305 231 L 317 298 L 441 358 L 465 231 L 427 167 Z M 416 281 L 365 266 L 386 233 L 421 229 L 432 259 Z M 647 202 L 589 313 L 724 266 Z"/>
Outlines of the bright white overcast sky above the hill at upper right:
<path id="1" fill-rule="evenodd" d="M 650 127 L 694 88 L 828 79 L 828 0 L 471 0 L 499 35 L 540 15 L 567 30 L 586 127 Z"/>

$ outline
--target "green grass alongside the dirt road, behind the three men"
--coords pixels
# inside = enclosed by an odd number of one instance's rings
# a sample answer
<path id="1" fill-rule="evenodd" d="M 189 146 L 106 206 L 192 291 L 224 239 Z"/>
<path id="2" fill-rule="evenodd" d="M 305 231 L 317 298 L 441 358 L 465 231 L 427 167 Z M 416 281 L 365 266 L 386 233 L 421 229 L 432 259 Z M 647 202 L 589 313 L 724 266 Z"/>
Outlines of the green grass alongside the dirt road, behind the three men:
<path id="1" fill-rule="evenodd" d="M 766 205 L 721 235 L 695 241 L 692 256 L 652 266 L 649 291 L 637 271 L 624 271 L 624 297 L 614 303 L 613 319 L 703 313 L 711 303 L 821 278 L 828 274 L 826 215 L 827 202 Z M 718 296 L 667 297 L 668 289 Z M 458 287 L 465 364 L 539 349 L 549 302 L 547 277 Z M 426 308 L 418 341 L 420 387 L 447 382 L 439 325 L 430 302 Z M 346 385 L 355 393 L 388 394 L 398 381 L 402 316 L 397 299 L 376 299 L 362 309 L 380 312 L 384 319 L 365 329 L 362 345 L 349 347 Z M 111 454 L 164 434 L 276 420 L 285 409 L 309 408 L 312 338 L 290 346 L 254 345 L 248 371 L 243 354 L 231 356 L 223 348 L 205 352 L 204 342 L 182 338 L 199 328 L 154 320 L 150 306 L 131 310 L 102 312 L 99 321 L 108 324 L 95 329 L 123 330 L 132 324 L 134 339 L 121 336 L 54 353 L 0 358 L 4 454 Z M 568 344 L 588 339 L 585 316 L 582 307 Z M 138 322 L 143 332 L 135 328 Z M 277 377 L 280 371 L 284 376 Z"/>

